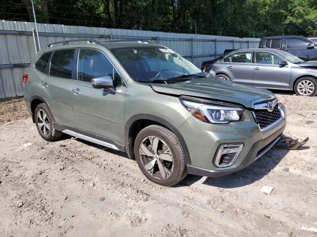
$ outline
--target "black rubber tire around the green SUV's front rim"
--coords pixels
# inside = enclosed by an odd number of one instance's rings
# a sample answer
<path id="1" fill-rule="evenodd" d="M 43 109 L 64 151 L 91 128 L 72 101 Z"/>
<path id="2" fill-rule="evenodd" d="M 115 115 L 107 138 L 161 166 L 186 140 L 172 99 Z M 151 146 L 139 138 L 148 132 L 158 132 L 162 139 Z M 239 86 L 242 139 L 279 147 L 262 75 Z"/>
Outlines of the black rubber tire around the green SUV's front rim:
<path id="1" fill-rule="evenodd" d="M 155 174 L 154 175 L 150 174 L 150 171 L 148 171 L 145 168 L 145 164 L 143 163 L 143 160 L 145 158 L 149 158 L 149 157 L 147 157 L 146 155 L 142 155 L 142 154 L 141 154 L 142 158 L 140 156 L 140 145 L 148 137 L 158 138 L 159 143 L 161 143 L 161 145 L 163 143 L 165 143 L 165 145 L 167 145 L 167 148 L 168 148 L 166 150 L 168 150 L 168 152 L 170 152 L 170 154 L 172 155 L 172 164 L 173 164 L 172 167 L 173 168 L 172 168 L 171 173 L 168 174 L 169 176 L 166 175 L 165 178 L 162 178 L 162 177 L 158 178 L 158 177 L 154 176 Z M 162 146 L 164 146 L 164 145 L 162 145 Z M 163 148 L 161 150 L 158 150 L 158 154 L 162 150 L 163 150 Z M 145 127 L 144 129 L 142 129 L 139 132 L 139 134 L 137 135 L 135 142 L 134 142 L 134 154 L 135 154 L 135 158 L 137 160 L 137 163 L 138 163 L 142 173 L 149 180 L 151 180 L 152 182 L 157 183 L 159 185 L 168 186 L 168 187 L 174 186 L 175 184 L 179 183 L 183 178 L 185 178 L 187 175 L 187 166 L 186 166 L 186 161 L 185 161 L 185 156 L 184 156 L 182 146 L 181 146 L 178 138 L 176 137 L 176 135 L 174 133 L 172 133 L 170 130 L 166 129 L 165 127 L 162 127 L 159 125 L 150 125 L 148 127 Z M 164 152 L 161 154 L 164 154 Z M 153 159 L 152 159 L 152 161 L 153 161 Z M 159 160 L 165 162 L 165 164 L 168 163 L 168 161 L 164 161 L 163 159 L 159 159 Z M 158 170 L 157 171 L 158 174 L 161 174 L 161 172 L 159 170 L 159 162 L 160 162 L 159 160 L 154 161 L 155 166 L 153 166 L 153 170 L 155 170 L 155 168 L 157 167 L 156 169 Z M 166 166 L 164 166 L 164 167 L 166 167 Z"/>

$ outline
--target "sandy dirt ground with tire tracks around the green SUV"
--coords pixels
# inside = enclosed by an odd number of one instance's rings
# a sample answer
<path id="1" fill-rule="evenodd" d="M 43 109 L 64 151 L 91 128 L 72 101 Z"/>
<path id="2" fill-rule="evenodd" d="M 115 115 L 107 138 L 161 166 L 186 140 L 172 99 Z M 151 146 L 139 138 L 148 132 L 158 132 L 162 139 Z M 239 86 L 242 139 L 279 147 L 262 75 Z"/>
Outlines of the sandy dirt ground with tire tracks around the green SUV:
<path id="1" fill-rule="evenodd" d="M 306 146 L 173 188 L 124 153 L 69 136 L 46 142 L 23 100 L 0 102 L 0 237 L 316 237 L 301 228 L 317 228 L 317 97 L 277 96 L 285 134 L 309 136 Z"/>

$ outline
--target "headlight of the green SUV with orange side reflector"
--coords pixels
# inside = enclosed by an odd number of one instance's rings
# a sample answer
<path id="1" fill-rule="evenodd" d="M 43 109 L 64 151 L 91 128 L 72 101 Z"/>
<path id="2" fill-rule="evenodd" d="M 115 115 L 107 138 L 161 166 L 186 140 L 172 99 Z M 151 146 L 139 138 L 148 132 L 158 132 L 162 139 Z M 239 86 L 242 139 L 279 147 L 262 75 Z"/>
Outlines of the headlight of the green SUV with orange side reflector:
<path id="1" fill-rule="evenodd" d="M 240 107 L 183 97 L 179 100 L 194 117 L 203 122 L 228 123 L 244 120 L 244 109 Z"/>

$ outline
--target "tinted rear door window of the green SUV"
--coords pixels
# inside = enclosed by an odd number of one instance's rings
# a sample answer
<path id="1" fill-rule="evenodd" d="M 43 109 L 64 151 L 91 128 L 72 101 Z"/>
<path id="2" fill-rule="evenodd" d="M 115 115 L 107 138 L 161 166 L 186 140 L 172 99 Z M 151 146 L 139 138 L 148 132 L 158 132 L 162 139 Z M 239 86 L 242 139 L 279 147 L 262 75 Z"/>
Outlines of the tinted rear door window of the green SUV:
<path id="1" fill-rule="evenodd" d="M 74 66 L 75 49 L 57 50 L 51 60 L 50 75 L 54 77 L 71 79 Z"/>

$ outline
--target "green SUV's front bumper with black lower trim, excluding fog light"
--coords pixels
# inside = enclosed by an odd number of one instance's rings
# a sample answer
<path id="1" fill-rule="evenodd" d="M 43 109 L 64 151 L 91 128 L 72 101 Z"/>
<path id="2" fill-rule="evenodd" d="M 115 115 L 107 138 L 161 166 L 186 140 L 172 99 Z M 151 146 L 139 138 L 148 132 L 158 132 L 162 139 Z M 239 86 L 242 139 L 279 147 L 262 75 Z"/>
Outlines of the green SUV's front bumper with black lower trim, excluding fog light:
<path id="1" fill-rule="evenodd" d="M 278 142 L 285 129 L 287 113 L 283 106 L 280 108 L 283 119 L 264 132 L 260 130 L 250 111 L 246 111 L 245 121 L 232 122 L 231 125 L 202 124 L 195 118 L 188 119 L 178 129 L 184 137 L 190 154 L 191 163 L 187 164 L 188 173 L 218 177 L 252 164 Z M 202 126 L 203 130 L 198 129 Z M 231 166 L 217 167 L 213 164 L 213 158 L 219 145 L 225 143 L 243 143 L 244 147 Z"/>

